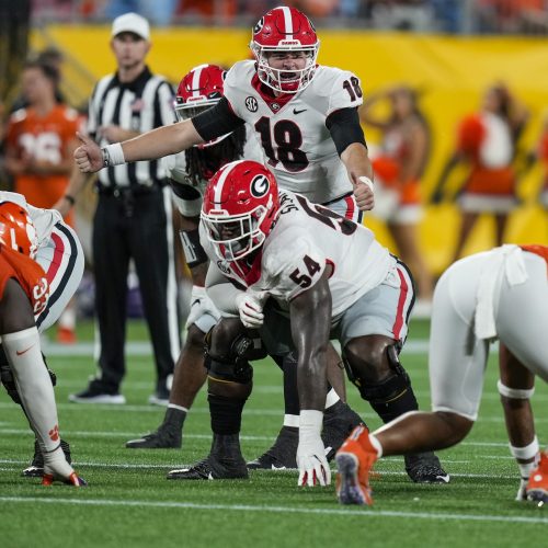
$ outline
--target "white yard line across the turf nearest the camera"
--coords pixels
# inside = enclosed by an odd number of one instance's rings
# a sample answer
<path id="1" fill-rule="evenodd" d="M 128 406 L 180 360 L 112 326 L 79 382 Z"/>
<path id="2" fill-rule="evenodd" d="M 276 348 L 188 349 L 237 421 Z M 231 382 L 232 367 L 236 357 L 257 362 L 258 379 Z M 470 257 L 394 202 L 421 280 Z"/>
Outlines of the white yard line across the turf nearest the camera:
<path id="1" fill-rule="evenodd" d="M 127 500 L 82 500 L 82 499 L 57 499 L 38 496 L 0 496 L 0 502 L 20 504 L 68 504 L 71 506 L 123 506 L 123 507 L 157 507 L 157 509 L 180 509 L 180 510 L 225 510 L 232 512 L 261 512 L 269 514 L 310 514 L 310 515 L 336 515 L 363 516 L 363 517 L 410 517 L 433 521 L 463 521 L 463 522 L 502 522 L 502 523 L 527 523 L 548 525 L 548 517 L 513 516 L 513 515 L 489 515 L 489 514 L 455 514 L 455 513 L 426 513 L 426 512 L 396 512 L 377 509 L 309 509 L 304 506 L 252 506 L 247 504 L 197 504 L 193 502 L 179 501 L 127 501 Z"/>

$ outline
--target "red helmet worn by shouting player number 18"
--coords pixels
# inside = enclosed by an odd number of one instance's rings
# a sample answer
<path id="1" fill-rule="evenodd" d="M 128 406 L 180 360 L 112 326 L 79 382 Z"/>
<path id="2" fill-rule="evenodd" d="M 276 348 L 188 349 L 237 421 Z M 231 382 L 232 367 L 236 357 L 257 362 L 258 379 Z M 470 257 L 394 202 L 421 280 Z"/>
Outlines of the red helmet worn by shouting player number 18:
<path id="1" fill-rule="evenodd" d="M 281 7 L 269 11 L 253 27 L 250 48 L 256 59 L 261 82 L 284 93 L 297 93 L 312 80 L 320 41 L 310 20 L 296 8 Z M 306 56 L 304 69 L 272 68 L 270 54 L 301 52 Z"/>

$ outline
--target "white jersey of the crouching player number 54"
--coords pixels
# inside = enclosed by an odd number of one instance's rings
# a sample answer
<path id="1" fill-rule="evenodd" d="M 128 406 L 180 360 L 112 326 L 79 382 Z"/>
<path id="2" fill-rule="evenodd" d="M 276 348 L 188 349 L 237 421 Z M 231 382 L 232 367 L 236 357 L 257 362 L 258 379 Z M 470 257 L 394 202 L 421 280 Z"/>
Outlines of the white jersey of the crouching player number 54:
<path id="1" fill-rule="evenodd" d="M 378 286 L 396 264 L 368 228 L 288 191 L 281 191 L 279 201 L 279 218 L 246 272 L 239 263 L 218 258 L 207 229 L 199 225 L 210 264 L 261 301 L 274 297 L 287 310 L 289 301 L 313 286 L 329 264 L 332 315 L 336 317 Z"/>

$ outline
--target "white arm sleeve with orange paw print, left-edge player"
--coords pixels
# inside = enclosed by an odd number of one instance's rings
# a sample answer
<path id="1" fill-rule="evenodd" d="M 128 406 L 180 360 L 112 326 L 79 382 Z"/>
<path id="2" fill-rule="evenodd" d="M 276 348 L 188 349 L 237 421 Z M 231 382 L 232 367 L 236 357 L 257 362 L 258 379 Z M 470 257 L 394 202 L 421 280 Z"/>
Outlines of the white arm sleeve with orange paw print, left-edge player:
<path id="1" fill-rule="evenodd" d="M 53 452 L 60 444 L 54 387 L 42 357 L 36 327 L 2 335 L 18 392 L 38 437 L 42 452 Z"/>

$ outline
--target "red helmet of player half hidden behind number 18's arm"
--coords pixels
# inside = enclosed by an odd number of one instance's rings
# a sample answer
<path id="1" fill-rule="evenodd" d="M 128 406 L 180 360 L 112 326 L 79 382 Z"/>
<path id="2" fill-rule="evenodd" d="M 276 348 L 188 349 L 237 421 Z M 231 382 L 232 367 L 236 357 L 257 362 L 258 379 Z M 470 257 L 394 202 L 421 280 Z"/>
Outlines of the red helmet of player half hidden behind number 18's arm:
<path id="1" fill-rule="evenodd" d="M 192 118 L 207 111 L 224 96 L 222 87 L 227 71 L 217 65 L 199 65 L 183 77 L 175 95 L 175 115 L 179 121 Z M 210 147 L 230 134 L 222 135 L 197 147 Z"/>

